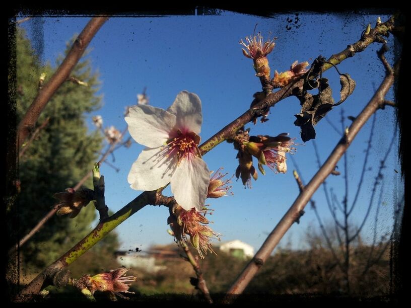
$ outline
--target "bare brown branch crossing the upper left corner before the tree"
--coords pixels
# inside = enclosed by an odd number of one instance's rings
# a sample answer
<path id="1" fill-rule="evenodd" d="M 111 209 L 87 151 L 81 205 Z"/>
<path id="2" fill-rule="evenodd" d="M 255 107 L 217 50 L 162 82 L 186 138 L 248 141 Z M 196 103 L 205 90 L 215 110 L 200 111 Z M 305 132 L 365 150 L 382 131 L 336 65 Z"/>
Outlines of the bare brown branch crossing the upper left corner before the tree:
<path id="1" fill-rule="evenodd" d="M 34 128 L 40 113 L 43 111 L 50 98 L 54 95 L 61 84 L 66 81 L 94 35 L 107 20 L 108 17 L 93 17 L 90 20 L 76 41 L 73 43 L 72 49 L 67 53 L 64 61 L 57 68 L 48 83 L 44 85 L 38 93 L 33 103 L 31 103 L 29 109 L 19 124 L 17 132 L 19 149 L 23 146 L 24 140 Z"/>

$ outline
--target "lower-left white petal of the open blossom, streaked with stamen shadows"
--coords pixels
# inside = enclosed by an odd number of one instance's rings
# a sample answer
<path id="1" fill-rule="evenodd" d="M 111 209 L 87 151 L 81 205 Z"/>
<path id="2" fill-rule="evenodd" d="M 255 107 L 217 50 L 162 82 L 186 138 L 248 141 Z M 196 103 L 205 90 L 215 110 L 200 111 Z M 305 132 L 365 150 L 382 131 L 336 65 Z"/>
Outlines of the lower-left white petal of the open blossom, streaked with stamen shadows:
<path id="1" fill-rule="evenodd" d="M 176 170 L 177 157 L 166 154 L 167 147 L 146 147 L 128 173 L 130 187 L 135 190 L 156 190 L 168 184 Z"/>

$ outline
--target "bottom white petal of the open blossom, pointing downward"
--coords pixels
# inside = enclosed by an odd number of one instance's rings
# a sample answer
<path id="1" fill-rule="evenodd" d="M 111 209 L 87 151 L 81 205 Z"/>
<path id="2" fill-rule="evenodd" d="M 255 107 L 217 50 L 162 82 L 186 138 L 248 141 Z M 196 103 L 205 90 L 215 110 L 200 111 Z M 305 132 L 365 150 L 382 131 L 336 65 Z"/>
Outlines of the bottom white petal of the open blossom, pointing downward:
<path id="1" fill-rule="evenodd" d="M 204 206 L 210 184 L 210 171 L 199 157 L 180 161 L 171 178 L 171 191 L 177 203 L 185 210 Z"/>

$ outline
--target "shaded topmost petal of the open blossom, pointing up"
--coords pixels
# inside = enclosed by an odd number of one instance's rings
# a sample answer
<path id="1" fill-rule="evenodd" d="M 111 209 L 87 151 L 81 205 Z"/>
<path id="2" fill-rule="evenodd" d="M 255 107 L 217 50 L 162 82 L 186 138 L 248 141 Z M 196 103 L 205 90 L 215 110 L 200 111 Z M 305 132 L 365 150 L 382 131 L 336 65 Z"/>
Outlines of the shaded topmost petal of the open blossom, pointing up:
<path id="1" fill-rule="evenodd" d="M 202 123 L 201 101 L 196 94 L 187 91 L 180 92 L 167 111 L 176 115 L 178 128 L 196 134 L 200 133 Z"/>

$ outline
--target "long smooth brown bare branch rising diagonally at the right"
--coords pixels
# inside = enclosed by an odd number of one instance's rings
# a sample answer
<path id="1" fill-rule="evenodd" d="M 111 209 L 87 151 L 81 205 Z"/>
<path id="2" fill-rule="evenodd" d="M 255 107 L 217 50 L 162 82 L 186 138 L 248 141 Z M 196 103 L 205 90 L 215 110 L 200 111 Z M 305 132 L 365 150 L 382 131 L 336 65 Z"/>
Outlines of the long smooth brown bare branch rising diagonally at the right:
<path id="1" fill-rule="evenodd" d="M 320 170 L 315 174 L 315 176 L 311 179 L 307 186 L 305 186 L 304 192 L 301 193 L 294 201 L 293 205 L 283 216 L 277 226 L 272 230 L 261 248 L 255 254 L 254 258 L 248 263 L 243 272 L 230 287 L 224 299 L 224 302 L 231 302 L 233 299 L 235 299 L 235 295 L 241 294 L 244 291 L 248 283 L 257 273 L 258 269 L 264 264 L 273 249 L 276 248 L 277 244 L 286 234 L 291 225 L 295 222 L 296 218 L 299 217 L 299 213 L 304 209 L 308 201 L 311 199 L 311 196 L 326 179 L 326 177 L 330 175 L 334 170 L 337 162 L 339 161 L 341 156 L 344 155 L 345 151 L 349 147 L 354 137 L 360 131 L 362 126 L 367 122 L 372 114 L 379 109 L 379 105 L 384 101 L 384 96 L 391 88 L 393 82 L 393 74 L 386 76 L 373 98 L 358 115 L 356 120 L 351 124 L 348 133 L 339 140 L 326 162 L 322 165 Z"/>

